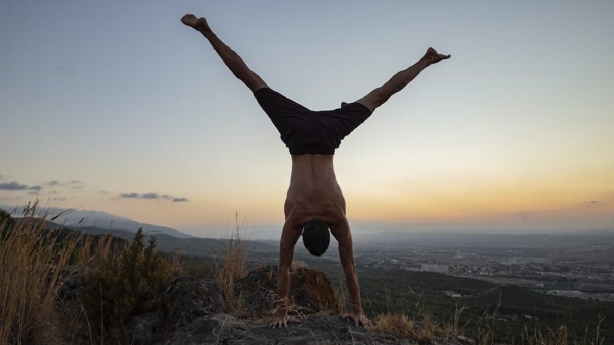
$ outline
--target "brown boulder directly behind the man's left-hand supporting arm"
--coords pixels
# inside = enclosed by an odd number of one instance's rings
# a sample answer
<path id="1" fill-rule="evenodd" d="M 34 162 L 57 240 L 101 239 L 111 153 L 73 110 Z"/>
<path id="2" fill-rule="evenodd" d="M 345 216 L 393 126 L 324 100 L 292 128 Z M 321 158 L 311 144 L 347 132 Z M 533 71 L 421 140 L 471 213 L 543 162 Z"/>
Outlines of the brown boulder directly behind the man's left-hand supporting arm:
<path id="1" fill-rule="evenodd" d="M 255 269 L 237 284 L 248 311 L 260 316 L 271 314 L 275 308 L 277 266 Z M 290 287 L 290 297 L 294 303 L 305 308 L 302 312 L 339 312 L 335 292 L 323 272 L 309 268 L 295 269 L 290 272 Z"/>

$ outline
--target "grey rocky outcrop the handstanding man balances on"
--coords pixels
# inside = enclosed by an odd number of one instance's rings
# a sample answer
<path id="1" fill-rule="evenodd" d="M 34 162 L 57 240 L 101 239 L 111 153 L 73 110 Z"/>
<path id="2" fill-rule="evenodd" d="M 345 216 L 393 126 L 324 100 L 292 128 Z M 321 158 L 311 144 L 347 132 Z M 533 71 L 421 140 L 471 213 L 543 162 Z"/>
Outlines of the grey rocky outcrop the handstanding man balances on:
<path id="1" fill-rule="evenodd" d="M 85 273 L 84 269 L 72 269 L 61 289 L 64 298 L 77 294 Z M 243 295 L 247 309 L 239 313 L 241 316 L 223 312 L 222 292 L 212 279 L 177 277 L 156 310 L 131 317 L 122 331 L 133 344 L 416 344 L 343 320 L 324 273 L 298 268 L 291 279 L 292 297 L 304 309 L 298 316 L 301 322 L 287 328 L 268 328 L 272 318 L 266 314 L 275 300 L 277 268 L 266 266 L 238 282 L 236 290 Z M 468 345 L 472 341 L 437 338 L 435 343 Z"/>

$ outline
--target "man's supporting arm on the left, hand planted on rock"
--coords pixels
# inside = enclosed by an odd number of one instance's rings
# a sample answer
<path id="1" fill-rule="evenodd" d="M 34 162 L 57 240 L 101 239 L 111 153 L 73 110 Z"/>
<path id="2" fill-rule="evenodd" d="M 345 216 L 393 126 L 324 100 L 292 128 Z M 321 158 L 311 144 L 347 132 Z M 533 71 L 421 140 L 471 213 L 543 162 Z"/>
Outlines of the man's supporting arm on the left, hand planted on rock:
<path id="1" fill-rule="evenodd" d="M 286 221 L 279 241 L 279 266 L 277 272 L 277 300 L 279 303 L 278 318 L 271 327 L 288 327 L 288 322 L 298 322 L 295 317 L 288 316 L 288 295 L 290 293 L 290 266 L 294 257 L 294 246 L 300 233 L 291 222 Z"/>

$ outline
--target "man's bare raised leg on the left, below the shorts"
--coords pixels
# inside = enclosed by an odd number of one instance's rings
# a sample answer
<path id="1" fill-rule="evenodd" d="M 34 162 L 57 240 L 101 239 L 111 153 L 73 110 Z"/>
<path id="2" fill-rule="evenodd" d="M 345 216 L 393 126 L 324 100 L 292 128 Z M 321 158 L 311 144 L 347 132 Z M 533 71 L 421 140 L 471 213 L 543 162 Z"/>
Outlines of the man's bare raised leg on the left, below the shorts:
<path id="1" fill-rule="evenodd" d="M 216 50 L 217 54 L 222 58 L 226 66 L 230 69 L 231 72 L 240 79 L 245 85 L 255 92 L 259 88 L 268 87 L 264 80 L 258 76 L 254 71 L 247 68 L 247 65 L 241 59 L 234 50 L 232 50 L 228 45 L 225 45 L 216 34 L 211 31 L 207 20 L 205 18 L 196 18 L 193 14 L 184 15 L 181 18 L 181 22 L 187 26 L 191 26 L 196 31 L 203 34 L 206 39 L 209 40 L 212 47 Z"/>

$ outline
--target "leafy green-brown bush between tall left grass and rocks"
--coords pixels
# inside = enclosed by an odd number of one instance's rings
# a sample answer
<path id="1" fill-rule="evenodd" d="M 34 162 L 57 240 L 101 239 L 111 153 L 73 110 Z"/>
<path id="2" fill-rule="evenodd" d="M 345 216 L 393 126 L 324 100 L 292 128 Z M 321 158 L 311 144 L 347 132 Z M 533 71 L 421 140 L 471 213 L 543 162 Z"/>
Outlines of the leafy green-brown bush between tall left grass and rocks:
<path id="1" fill-rule="evenodd" d="M 106 325 L 106 330 L 92 327 L 100 333 L 100 343 L 105 332 L 120 337 L 131 316 L 151 311 L 168 284 L 169 265 L 154 250 L 155 238 L 149 240 L 148 246 L 143 244 L 143 238 L 139 228 L 120 255 L 101 260 L 98 268 L 85 277 L 82 302 L 89 320 L 95 325 Z"/>

